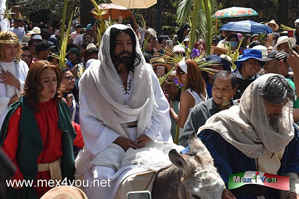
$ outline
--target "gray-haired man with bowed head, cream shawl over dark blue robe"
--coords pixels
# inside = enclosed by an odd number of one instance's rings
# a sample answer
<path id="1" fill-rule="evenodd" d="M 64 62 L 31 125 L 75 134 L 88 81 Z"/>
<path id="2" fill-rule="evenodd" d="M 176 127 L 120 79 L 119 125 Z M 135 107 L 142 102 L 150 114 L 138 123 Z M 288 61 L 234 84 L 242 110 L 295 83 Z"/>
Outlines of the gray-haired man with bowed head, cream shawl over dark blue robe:
<path id="1" fill-rule="evenodd" d="M 295 92 L 287 80 L 266 74 L 244 91 L 239 106 L 210 117 L 198 137 L 214 158 L 223 181 L 245 171 L 290 177 L 290 191 L 261 185 L 231 190 L 238 199 L 299 199 L 299 132 L 293 121 Z M 281 195 L 279 195 L 281 194 Z M 222 199 L 234 199 L 222 196 Z"/>

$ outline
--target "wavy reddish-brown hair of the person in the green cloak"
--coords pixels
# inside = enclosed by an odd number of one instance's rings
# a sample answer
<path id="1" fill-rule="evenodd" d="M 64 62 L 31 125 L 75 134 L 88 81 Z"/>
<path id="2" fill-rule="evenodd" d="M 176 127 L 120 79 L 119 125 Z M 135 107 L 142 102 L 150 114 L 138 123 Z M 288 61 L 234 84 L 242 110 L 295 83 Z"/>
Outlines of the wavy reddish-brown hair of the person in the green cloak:
<path id="1" fill-rule="evenodd" d="M 57 88 L 54 96 L 54 100 L 60 102 L 63 94 L 63 85 L 62 81 L 62 73 L 58 66 L 53 65 L 48 61 L 37 61 L 33 63 L 28 71 L 24 92 L 22 96 L 27 100 L 27 104 L 30 108 L 32 108 L 33 112 L 38 112 L 37 104 L 39 103 L 39 93 L 43 90 L 43 87 L 40 84 L 40 76 L 43 70 L 45 69 L 53 69 L 57 76 Z"/>

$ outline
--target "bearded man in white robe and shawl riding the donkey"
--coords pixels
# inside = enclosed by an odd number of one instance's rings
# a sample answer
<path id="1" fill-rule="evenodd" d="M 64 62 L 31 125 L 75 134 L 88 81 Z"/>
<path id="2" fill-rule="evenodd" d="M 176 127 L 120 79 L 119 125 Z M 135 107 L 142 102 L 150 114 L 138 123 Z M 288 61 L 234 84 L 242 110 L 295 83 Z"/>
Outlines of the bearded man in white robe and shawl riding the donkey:
<path id="1" fill-rule="evenodd" d="M 170 164 L 169 105 L 139 46 L 131 27 L 110 26 L 99 60 L 79 82 L 85 147 L 76 159 L 76 176 L 89 180 L 84 190 L 89 199 L 117 198 L 128 176 Z M 109 184 L 90 187 L 93 180 Z"/>

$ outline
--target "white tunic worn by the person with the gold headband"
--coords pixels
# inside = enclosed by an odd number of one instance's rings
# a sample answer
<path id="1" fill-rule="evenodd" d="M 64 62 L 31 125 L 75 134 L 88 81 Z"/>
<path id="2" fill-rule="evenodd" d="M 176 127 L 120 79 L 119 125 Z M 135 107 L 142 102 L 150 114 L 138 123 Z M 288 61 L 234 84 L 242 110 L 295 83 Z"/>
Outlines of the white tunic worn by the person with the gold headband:
<path id="1" fill-rule="evenodd" d="M 15 64 L 16 64 L 16 69 L 15 70 Z M 14 86 L 6 85 L 5 89 L 5 84 L 0 83 L 0 126 L 2 126 L 3 120 L 6 116 L 7 110 L 8 110 L 8 103 L 11 97 L 13 97 L 15 94 L 20 97 L 20 93 L 24 89 L 24 84 L 25 84 L 25 79 L 28 73 L 28 66 L 27 64 L 20 60 L 20 62 L 17 64 L 15 61 L 8 63 L 3 63 L 0 62 L 0 68 L 3 68 L 5 71 L 8 70 L 16 79 L 20 81 L 20 90 L 18 90 Z M 0 71 L 1 72 L 1 71 Z M 16 75 L 18 74 L 18 77 Z"/>

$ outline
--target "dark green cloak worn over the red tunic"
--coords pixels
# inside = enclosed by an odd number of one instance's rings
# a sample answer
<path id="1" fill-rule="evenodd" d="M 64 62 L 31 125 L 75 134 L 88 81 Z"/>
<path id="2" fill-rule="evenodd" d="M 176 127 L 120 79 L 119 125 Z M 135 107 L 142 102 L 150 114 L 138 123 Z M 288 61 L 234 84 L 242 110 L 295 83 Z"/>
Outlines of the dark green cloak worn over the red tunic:
<path id="1" fill-rule="evenodd" d="M 67 182 L 69 182 L 69 180 L 74 180 L 75 174 L 73 140 L 76 137 L 76 132 L 71 123 L 70 111 L 67 104 L 63 100 L 57 102 L 57 104 L 58 128 L 62 131 L 61 174 L 62 178 L 67 178 Z M 25 98 L 21 98 L 9 107 L 0 131 L 0 145 L 3 145 L 6 137 L 10 117 L 20 105 L 22 106 L 22 115 L 20 119 L 16 161 L 20 172 L 24 176 L 24 180 L 34 180 L 37 174 L 36 161 L 43 150 L 43 143 L 34 113 L 27 105 Z M 38 199 L 33 187 L 24 187 L 24 189 L 13 189 L 9 187 L 6 192 L 6 198 Z"/>

